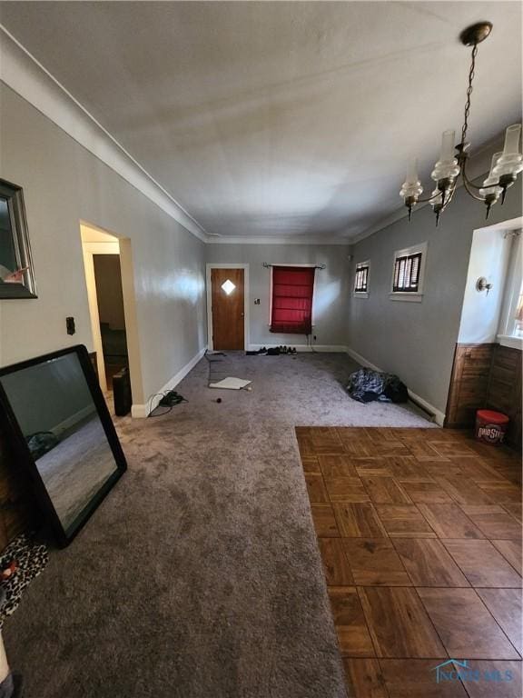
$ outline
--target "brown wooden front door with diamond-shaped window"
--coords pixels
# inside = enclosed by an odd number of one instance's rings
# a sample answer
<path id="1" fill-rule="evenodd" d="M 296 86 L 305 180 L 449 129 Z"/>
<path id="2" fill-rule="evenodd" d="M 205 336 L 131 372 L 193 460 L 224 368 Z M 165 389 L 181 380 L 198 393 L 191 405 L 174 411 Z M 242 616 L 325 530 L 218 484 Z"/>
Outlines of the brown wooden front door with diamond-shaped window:
<path id="1" fill-rule="evenodd" d="M 244 349 L 243 269 L 211 269 L 212 346 Z"/>

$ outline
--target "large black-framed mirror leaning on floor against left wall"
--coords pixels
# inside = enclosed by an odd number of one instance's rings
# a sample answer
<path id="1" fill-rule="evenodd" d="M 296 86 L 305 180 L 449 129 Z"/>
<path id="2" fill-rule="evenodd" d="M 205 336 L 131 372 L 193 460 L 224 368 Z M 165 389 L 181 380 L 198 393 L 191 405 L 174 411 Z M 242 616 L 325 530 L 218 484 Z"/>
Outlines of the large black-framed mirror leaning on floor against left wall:
<path id="1" fill-rule="evenodd" d="M 0 369 L 0 410 L 46 522 L 70 543 L 127 467 L 86 348 Z"/>

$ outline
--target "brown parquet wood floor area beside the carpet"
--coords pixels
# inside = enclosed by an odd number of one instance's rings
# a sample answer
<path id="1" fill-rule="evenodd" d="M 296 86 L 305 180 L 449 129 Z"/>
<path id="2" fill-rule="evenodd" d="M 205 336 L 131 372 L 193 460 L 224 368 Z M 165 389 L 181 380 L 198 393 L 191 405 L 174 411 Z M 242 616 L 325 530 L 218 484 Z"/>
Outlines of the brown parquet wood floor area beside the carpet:
<path id="1" fill-rule="evenodd" d="M 518 454 L 450 429 L 296 434 L 349 695 L 520 698 Z M 437 683 L 449 659 L 479 680 Z"/>

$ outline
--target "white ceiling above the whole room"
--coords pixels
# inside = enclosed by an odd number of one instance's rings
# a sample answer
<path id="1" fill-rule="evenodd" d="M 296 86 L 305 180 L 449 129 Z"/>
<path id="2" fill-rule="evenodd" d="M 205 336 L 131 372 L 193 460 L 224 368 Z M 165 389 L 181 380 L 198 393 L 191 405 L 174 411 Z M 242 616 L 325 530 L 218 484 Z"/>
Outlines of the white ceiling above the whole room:
<path id="1" fill-rule="evenodd" d="M 518 2 L 3 2 L 0 22 L 209 234 L 354 237 L 441 131 L 521 119 Z M 429 186 L 429 184 L 427 184 Z"/>

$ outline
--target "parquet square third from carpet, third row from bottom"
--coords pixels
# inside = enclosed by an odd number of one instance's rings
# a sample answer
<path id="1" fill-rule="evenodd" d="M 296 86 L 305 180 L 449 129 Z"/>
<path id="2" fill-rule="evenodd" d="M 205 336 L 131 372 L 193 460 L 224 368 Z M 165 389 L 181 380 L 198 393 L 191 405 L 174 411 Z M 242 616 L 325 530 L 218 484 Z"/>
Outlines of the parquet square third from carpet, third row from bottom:
<path id="1" fill-rule="evenodd" d="M 415 586 L 470 585 L 440 541 L 396 538 L 394 546 Z"/>

